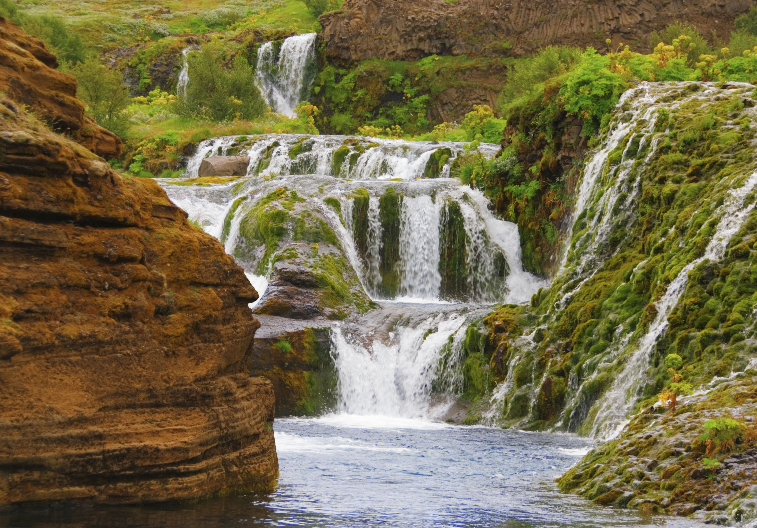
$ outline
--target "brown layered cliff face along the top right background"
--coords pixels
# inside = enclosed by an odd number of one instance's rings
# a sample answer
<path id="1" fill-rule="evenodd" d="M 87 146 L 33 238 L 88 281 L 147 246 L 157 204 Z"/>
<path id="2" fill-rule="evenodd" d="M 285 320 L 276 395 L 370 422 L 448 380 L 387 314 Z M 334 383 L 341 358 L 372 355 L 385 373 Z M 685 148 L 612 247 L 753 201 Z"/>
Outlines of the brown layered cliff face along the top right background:
<path id="1" fill-rule="evenodd" d="M 427 55 L 503 56 L 546 45 L 594 45 L 605 39 L 647 47 L 647 38 L 673 20 L 725 39 L 749 0 L 345 0 L 320 18 L 332 57 L 415 61 Z"/>

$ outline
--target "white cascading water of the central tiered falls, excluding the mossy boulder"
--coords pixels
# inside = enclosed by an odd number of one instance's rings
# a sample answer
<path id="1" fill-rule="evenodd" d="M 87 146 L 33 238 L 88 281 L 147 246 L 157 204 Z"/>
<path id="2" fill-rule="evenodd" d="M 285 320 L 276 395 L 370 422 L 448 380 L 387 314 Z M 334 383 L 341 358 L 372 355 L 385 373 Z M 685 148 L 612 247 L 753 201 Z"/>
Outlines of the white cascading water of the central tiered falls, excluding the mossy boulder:
<path id="1" fill-rule="evenodd" d="M 198 145 L 188 176 L 207 155 L 232 152 L 250 156 L 247 177 L 165 186 L 191 220 L 225 240 L 231 255 L 241 255 L 245 244 L 241 219 L 264 196 L 282 186 L 296 191 L 337 234 L 366 292 L 383 300 L 380 310 L 335 326 L 339 409 L 432 417 L 449 405 L 441 398 L 444 405 L 435 407 L 432 395 L 459 392 L 469 324 L 491 311 L 490 303 L 528 301 L 547 285 L 522 269 L 518 228 L 495 217 L 480 191 L 444 177 L 463 146 L 347 136 L 215 138 Z M 442 177 L 424 179 L 440 151 L 451 154 L 434 174 Z M 481 151 L 493 155 L 497 145 Z M 323 202 L 326 196 L 339 202 L 341 214 Z M 396 258 L 388 260 L 391 252 Z M 244 257 L 238 262 L 264 287 L 268 276 Z"/>

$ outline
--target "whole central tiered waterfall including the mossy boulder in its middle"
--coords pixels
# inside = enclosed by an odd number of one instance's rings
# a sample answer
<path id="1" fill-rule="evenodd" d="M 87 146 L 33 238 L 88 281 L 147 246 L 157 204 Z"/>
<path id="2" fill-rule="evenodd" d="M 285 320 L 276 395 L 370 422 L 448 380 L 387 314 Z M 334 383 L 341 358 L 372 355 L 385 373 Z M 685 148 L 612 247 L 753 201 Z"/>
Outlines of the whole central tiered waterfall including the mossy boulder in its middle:
<path id="1" fill-rule="evenodd" d="M 431 417 L 463 388 L 469 325 L 492 303 L 522 303 L 547 286 L 522 269 L 517 227 L 495 217 L 478 189 L 445 177 L 464 147 L 214 138 L 198 146 L 189 175 L 207 155 L 249 155 L 247 176 L 163 184 L 251 280 L 267 283 L 254 307 L 264 324 L 333 327 L 339 410 Z M 481 145 L 487 155 L 496 150 Z M 270 338 L 273 355 L 277 339 Z M 287 361 L 282 369 L 291 369 Z"/>

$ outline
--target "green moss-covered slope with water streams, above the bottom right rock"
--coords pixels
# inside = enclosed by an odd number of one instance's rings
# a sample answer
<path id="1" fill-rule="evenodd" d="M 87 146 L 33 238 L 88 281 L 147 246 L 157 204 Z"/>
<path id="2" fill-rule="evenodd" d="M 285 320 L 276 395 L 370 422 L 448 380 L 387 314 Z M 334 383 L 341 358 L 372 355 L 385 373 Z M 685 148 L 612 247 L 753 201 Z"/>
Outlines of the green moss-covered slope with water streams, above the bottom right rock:
<path id="1" fill-rule="evenodd" d="M 677 375 L 694 386 L 748 367 L 752 91 L 641 83 L 621 97 L 584 162 L 552 286 L 531 310 L 492 318 L 490 331 L 508 317 L 523 328 L 488 345 L 500 382 L 489 420 L 613 438 L 640 402 L 656 403 L 665 355 L 690 365 Z M 733 273 L 739 291 L 727 286 Z M 729 347 L 738 355 L 724 355 Z"/>

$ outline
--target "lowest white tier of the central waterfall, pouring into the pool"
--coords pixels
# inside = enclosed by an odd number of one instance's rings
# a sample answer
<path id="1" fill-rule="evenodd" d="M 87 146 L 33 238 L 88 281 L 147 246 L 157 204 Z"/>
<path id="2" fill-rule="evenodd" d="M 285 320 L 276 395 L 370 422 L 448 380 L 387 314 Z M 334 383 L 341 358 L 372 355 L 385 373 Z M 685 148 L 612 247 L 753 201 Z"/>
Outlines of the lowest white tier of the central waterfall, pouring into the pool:
<path id="1" fill-rule="evenodd" d="M 336 327 L 332 342 L 339 372 L 338 410 L 404 418 L 444 412 L 449 401 L 442 398 L 434 408 L 432 393 L 453 395 L 460 389 L 459 370 L 450 366 L 462 359 L 467 327 L 485 312 L 390 305 L 368 318 L 369 335 L 364 328 Z M 388 328 L 385 320 L 400 322 Z"/>

